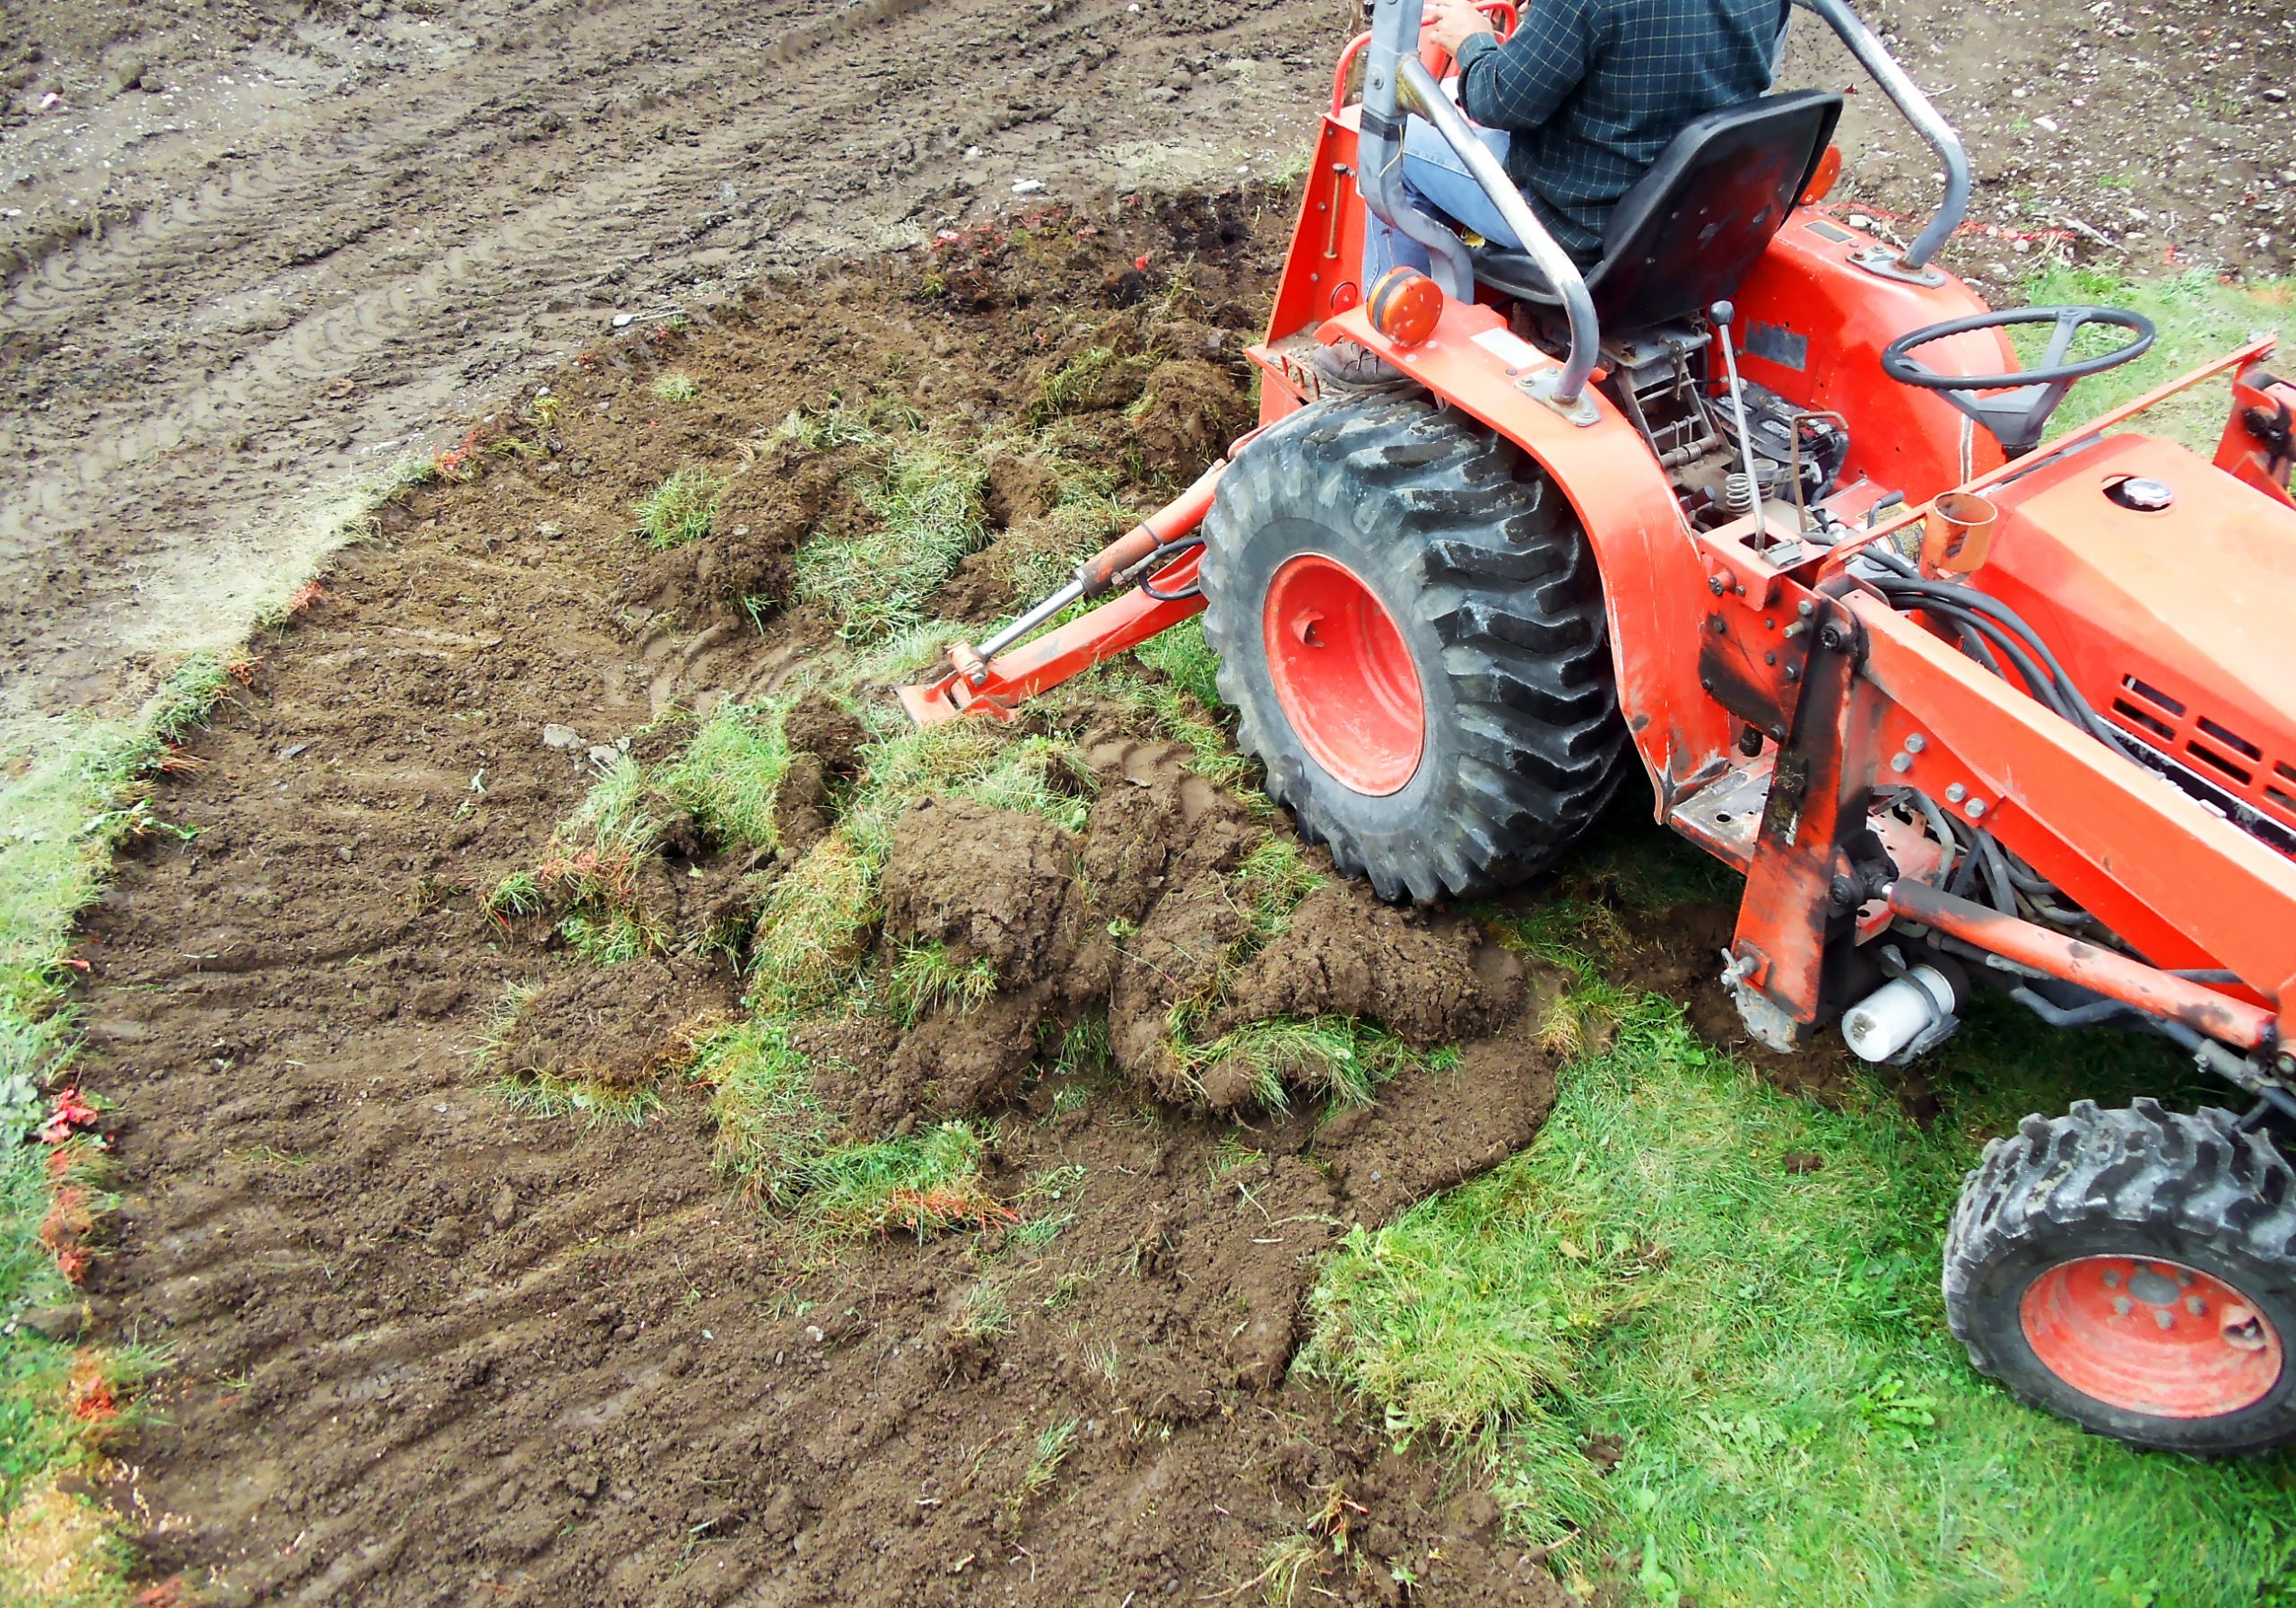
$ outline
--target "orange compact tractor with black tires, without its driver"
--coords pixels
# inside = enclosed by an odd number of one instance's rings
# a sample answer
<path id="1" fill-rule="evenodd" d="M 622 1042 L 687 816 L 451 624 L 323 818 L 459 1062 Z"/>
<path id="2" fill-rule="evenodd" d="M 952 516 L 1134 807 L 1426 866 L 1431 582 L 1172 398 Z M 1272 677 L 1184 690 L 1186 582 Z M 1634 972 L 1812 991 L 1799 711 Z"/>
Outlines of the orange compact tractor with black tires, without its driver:
<path id="1" fill-rule="evenodd" d="M 1841 101 L 1793 92 L 1690 124 L 1580 269 L 1446 99 L 1419 0 L 1378 0 L 1251 351 L 1261 427 L 905 703 L 1006 717 L 1203 611 L 1267 793 L 1382 896 L 1529 878 L 1639 760 L 1745 873 L 1720 965 L 1761 1043 L 1906 1061 L 1977 988 L 2165 1034 L 2227 1107 L 2082 1100 L 1991 1142 L 1947 1316 L 2101 1433 L 2291 1440 L 2296 384 L 2255 342 L 2043 441 L 2151 328 L 1991 312 L 1933 266 L 1961 142 L 1841 0 L 1800 5 L 1945 168 L 1910 248 L 1825 207 Z M 1520 248 L 1403 184 L 1407 126 Z M 1396 234 L 1428 273 L 1373 273 Z M 2085 356 L 2087 326 L 2119 333 Z M 2213 462 L 2119 430 L 2223 372 Z"/>

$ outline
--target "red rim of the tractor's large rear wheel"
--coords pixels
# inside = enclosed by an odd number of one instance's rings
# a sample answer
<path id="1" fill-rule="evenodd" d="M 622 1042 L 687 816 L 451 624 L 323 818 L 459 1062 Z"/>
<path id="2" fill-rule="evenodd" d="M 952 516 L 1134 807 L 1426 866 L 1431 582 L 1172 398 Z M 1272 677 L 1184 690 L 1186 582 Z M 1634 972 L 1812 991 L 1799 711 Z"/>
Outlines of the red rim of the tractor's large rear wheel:
<path id="1" fill-rule="evenodd" d="M 1336 558 L 1286 558 L 1267 583 L 1267 675 L 1302 747 L 1357 793 L 1398 793 L 1419 770 L 1428 717 L 1403 632 Z"/>

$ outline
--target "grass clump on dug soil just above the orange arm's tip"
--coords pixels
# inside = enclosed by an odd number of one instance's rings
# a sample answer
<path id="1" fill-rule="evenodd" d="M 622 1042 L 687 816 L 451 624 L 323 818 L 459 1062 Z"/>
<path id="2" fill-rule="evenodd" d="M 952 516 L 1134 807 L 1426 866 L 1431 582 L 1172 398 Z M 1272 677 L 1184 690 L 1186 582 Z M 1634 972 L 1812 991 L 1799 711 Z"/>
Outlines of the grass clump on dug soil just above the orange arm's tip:
<path id="1" fill-rule="evenodd" d="M 983 471 L 923 441 L 893 453 L 856 492 L 875 528 L 817 535 L 797 551 L 797 597 L 817 602 L 850 643 L 882 643 L 925 618 L 925 600 L 987 542 Z"/>

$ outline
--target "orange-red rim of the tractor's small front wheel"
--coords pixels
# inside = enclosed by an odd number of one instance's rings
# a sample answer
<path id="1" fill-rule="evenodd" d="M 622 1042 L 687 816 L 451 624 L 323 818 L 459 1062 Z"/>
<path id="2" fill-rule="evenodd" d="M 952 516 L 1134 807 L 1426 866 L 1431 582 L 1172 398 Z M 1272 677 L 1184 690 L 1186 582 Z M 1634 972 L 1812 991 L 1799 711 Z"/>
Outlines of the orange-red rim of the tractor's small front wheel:
<path id="1" fill-rule="evenodd" d="M 2280 1335 L 2241 1291 L 2158 1257 L 2082 1257 L 2025 1289 L 2041 1365 L 2085 1397 L 2154 1417 L 2218 1417 L 2280 1383 Z"/>

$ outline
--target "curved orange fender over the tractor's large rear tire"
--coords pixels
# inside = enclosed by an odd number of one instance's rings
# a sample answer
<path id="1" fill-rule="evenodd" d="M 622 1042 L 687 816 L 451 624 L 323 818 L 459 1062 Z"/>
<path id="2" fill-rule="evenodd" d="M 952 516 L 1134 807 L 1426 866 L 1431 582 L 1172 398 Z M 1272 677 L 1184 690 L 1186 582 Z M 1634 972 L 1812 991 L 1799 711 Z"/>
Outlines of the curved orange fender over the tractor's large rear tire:
<path id="1" fill-rule="evenodd" d="M 1729 763 L 1729 712 L 1699 687 L 1706 561 L 1651 448 L 1596 391 L 1591 423 L 1573 423 L 1522 381 L 1559 368 L 1483 306 L 1451 301 L 1435 333 L 1398 347 L 1362 308 L 1325 319 L 1318 338 L 1355 340 L 1437 400 L 1522 448 L 1577 512 L 1596 570 L 1619 678 L 1619 712 L 1658 795 L 1658 820 Z M 1584 413 L 1582 413 L 1584 416 Z"/>

